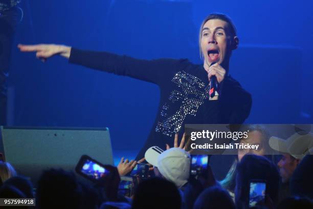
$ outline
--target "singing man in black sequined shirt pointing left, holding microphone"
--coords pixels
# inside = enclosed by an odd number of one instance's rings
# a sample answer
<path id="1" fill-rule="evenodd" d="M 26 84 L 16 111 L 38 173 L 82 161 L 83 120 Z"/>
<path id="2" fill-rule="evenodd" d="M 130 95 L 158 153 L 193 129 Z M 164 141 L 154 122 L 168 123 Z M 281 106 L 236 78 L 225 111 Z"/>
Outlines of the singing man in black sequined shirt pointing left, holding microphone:
<path id="1" fill-rule="evenodd" d="M 73 64 L 158 85 L 160 106 L 148 139 L 137 156 L 140 159 L 153 145 L 165 147 L 166 143 L 171 143 L 175 133 L 184 132 L 185 123 L 242 123 L 249 116 L 251 95 L 229 75 L 230 57 L 238 43 L 232 20 L 225 14 L 213 13 L 200 27 L 203 65 L 194 65 L 187 59 L 141 60 L 62 45 L 18 45 L 18 48 L 23 52 L 36 52 L 42 60 L 61 55 Z M 213 77 L 218 88 L 212 97 L 210 81 Z"/>

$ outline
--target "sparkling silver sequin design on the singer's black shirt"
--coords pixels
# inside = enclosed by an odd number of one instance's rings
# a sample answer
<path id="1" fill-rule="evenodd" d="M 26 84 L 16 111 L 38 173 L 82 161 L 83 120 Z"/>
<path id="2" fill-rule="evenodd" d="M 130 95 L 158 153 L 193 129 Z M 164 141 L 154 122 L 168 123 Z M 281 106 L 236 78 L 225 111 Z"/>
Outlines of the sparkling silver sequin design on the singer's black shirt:
<path id="1" fill-rule="evenodd" d="M 161 108 L 161 120 L 156 132 L 172 136 L 178 132 L 187 115 L 196 116 L 198 108 L 209 98 L 209 87 L 194 75 L 184 71 L 177 72 L 172 79 L 174 90 L 168 102 Z M 178 109 L 173 109 L 180 106 Z"/>

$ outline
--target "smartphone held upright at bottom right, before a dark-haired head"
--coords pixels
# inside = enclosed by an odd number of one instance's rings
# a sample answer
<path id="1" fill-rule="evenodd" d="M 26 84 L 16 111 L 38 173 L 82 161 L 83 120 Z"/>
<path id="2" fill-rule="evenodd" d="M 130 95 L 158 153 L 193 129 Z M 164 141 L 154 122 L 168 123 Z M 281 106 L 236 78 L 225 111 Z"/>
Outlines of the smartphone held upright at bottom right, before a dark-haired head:
<path id="1" fill-rule="evenodd" d="M 251 180 L 249 192 L 249 207 L 265 203 L 266 182 L 264 180 Z"/>

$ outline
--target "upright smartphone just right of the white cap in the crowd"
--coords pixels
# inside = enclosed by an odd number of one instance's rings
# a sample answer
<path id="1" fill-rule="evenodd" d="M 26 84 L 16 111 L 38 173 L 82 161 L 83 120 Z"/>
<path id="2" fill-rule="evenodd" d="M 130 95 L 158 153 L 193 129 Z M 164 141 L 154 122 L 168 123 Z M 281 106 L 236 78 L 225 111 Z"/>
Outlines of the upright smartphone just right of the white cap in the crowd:
<path id="1" fill-rule="evenodd" d="M 199 175 L 205 175 L 208 169 L 208 155 L 191 155 L 190 177 L 197 178 Z"/>

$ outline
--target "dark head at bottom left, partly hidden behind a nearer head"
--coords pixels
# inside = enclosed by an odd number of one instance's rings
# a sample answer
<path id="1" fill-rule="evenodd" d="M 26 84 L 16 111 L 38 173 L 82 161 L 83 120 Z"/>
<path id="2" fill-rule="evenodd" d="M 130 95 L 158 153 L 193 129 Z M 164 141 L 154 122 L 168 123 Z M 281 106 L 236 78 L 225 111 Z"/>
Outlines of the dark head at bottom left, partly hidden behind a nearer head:
<path id="1" fill-rule="evenodd" d="M 14 176 L 4 182 L 5 185 L 15 186 L 23 192 L 27 198 L 34 198 L 33 184 L 25 177 Z"/>

